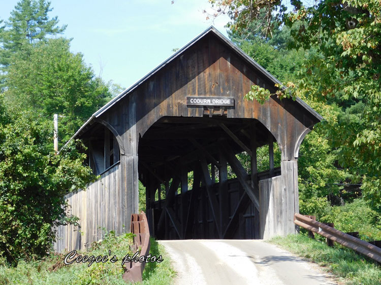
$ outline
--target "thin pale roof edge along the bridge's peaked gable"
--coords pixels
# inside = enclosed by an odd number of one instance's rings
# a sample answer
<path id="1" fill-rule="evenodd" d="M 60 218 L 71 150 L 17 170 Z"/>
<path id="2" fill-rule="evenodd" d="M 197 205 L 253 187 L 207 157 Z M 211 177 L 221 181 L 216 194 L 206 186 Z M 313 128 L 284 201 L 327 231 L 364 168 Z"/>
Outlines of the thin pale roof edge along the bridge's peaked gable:
<path id="1" fill-rule="evenodd" d="M 249 57 L 246 53 L 244 53 L 240 48 L 238 48 L 236 45 L 233 44 L 229 39 L 225 37 L 222 33 L 220 33 L 217 29 L 215 29 L 213 26 L 208 27 L 205 31 L 200 33 L 195 39 L 190 41 L 188 44 L 186 44 L 184 47 L 179 49 L 177 52 L 175 52 L 172 56 L 170 56 L 167 60 L 165 60 L 162 64 L 158 65 L 156 68 L 154 68 L 150 73 L 148 73 L 146 76 L 144 76 L 141 80 L 136 82 L 131 87 L 125 89 L 122 91 L 119 95 L 114 97 L 112 100 L 110 100 L 106 105 L 104 105 L 101 109 L 99 109 L 97 112 L 95 112 L 83 125 L 82 127 L 73 135 L 72 138 L 76 137 L 83 128 L 90 123 L 94 118 L 98 118 L 103 113 L 105 113 L 107 110 L 109 110 L 114 104 L 116 104 L 118 101 L 120 101 L 123 97 L 130 94 L 132 91 L 134 91 L 138 86 L 140 86 L 142 83 L 144 83 L 148 78 L 153 76 L 155 73 L 157 73 L 159 70 L 161 70 L 163 67 L 171 63 L 179 54 L 186 51 L 190 47 L 192 47 L 195 43 L 200 41 L 202 38 L 204 38 L 207 34 L 213 33 L 219 40 L 224 42 L 226 45 L 228 45 L 233 51 L 239 55 L 240 58 L 242 58 L 244 61 L 246 61 L 249 65 L 251 65 L 253 68 L 257 69 L 265 78 L 267 78 L 270 82 L 275 84 L 279 84 L 279 86 L 282 86 L 282 83 L 277 80 L 274 76 L 272 76 L 265 68 L 263 68 L 258 62 L 253 60 L 251 57 Z M 299 103 L 305 110 L 307 110 L 313 117 L 315 117 L 318 121 L 322 121 L 323 117 L 314 111 L 307 103 L 305 103 L 302 99 L 299 97 L 296 98 L 296 102 Z M 71 139 L 72 139 L 71 138 Z M 70 139 L 70 140 L 71 140 Z M 69 140 L 69 141 L 70 141 Z M 68 141 L 68 142 L 69 142 Z"/>

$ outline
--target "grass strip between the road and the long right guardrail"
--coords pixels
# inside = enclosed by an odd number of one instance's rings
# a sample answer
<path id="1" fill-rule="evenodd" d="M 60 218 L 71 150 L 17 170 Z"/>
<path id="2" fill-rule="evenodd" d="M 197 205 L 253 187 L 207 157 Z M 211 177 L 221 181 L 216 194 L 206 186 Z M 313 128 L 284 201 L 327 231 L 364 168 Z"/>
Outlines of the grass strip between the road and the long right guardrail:
<path id="1" fill-rule="evenodd" d="M 345 284 L 381 284 L 381 266 L 337 243 L 329 247 L 302 234 L 275 237 L 269 242 L 325 267 Z"/>

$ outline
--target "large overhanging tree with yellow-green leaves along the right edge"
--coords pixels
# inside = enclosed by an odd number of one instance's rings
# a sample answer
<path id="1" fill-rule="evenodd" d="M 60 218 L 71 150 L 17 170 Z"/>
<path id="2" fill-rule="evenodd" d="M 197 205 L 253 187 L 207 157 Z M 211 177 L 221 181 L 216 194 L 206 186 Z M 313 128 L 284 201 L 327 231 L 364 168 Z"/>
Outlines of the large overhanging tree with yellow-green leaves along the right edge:
<path id="1" fill-rule="evenodd" d="M 281 1 L 212 1 L 230 11 L 242 29 L 260 16 L 291 28 L 292 46 L 311 50 L 300 78 L 285 84 L 278 96 L 300 96 L 343 106 L 343 113 L 329 131 L 339 163 L 362 180 L 362 194 L 373 205 L 381 204 L 381 6 L 378 0 L 320 0 L 310 7 L 293 1 L 287 12 Z M 275 12 L 275 13 L 274 13 Z M 296 22 L 300 25 L 295 26 Z M 265 25 L 264 31 L 271 29 Z M 258 92 L 259 91 L 259 92 Z M 253 90 L 251 99 L 266 99 L 269 92 Z M 341 101 L 341 102 L 340 102 Z M 356 106 L 357 105 L 357 106 Z"/>

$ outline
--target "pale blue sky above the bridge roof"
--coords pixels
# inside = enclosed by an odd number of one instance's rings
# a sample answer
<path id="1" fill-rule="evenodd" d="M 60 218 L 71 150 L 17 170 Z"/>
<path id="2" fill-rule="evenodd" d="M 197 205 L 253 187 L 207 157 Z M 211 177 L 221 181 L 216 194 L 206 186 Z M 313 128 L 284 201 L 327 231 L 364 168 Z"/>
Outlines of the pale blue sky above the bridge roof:
<path id="1" fill-rule="evenodd" d="M 17 0 L 0 0 L 8 19 Z M 107 4 L 106 4 L 107 3 Z M 213 24 L 226 35 L 227 16 L 206 20 L 208 0 L 51 0 L 59 24 L 67 24 L 71 50 L 105 81 L 129 87 Z"/>

